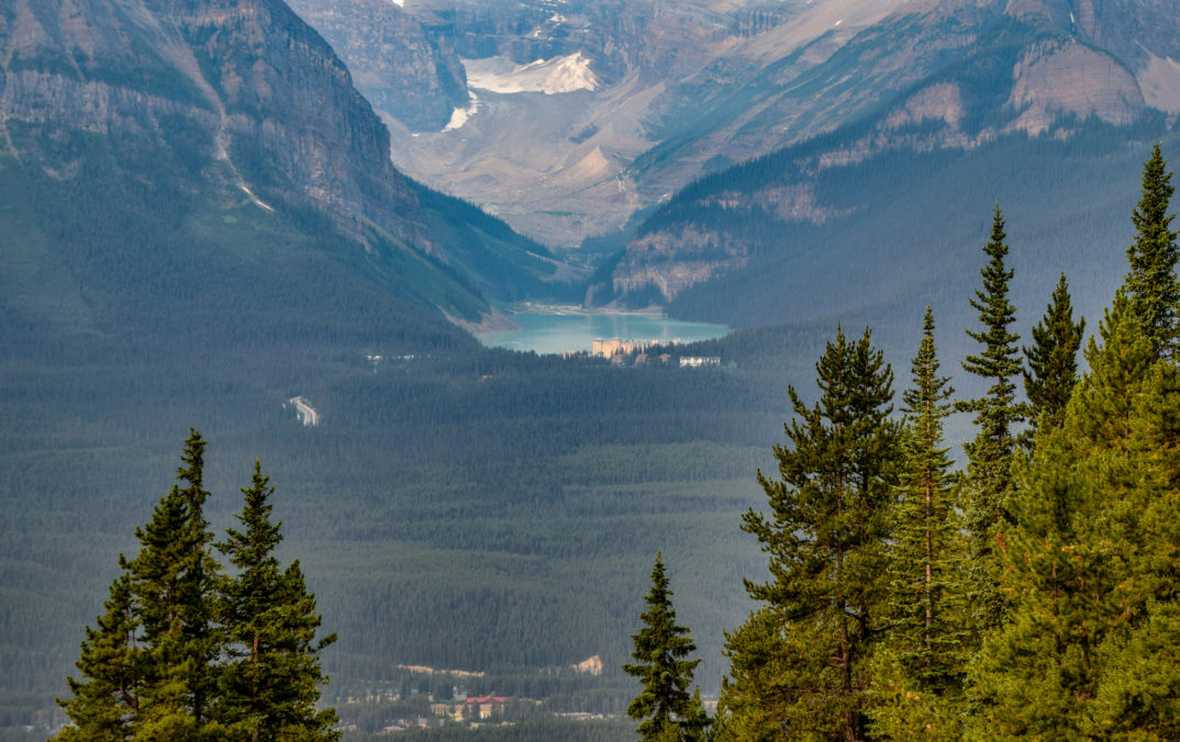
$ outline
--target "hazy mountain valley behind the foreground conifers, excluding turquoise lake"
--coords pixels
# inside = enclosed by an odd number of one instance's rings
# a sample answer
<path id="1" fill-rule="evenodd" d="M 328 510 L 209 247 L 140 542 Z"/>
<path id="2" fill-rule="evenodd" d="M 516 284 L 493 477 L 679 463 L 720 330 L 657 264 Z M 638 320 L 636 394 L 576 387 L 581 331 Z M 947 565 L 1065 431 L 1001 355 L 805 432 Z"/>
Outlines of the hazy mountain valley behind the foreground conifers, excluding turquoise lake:
<path id="1" fill-rule="evenodd" d="M 1096 330 L 1141 165 L 1180 162 L 1178 24 L 1145 0 L 0 0 L 0 740 L 63 723 L 190 427 L 218 530 L 256 459 L 274 477 L 355 734 L 388 725 L 366 698 L 414 718 L 459 690 L 621 716 L 656 551 L 715 697 L 787 385 L 814 399 L 837 327 L 872 326 L 900 380 L 930 304 L 975 393 L 997 203 L 1025 342 L 1062 271 Z M 524 302 L 734 331 L 627 368 L 472 337 Z"/>

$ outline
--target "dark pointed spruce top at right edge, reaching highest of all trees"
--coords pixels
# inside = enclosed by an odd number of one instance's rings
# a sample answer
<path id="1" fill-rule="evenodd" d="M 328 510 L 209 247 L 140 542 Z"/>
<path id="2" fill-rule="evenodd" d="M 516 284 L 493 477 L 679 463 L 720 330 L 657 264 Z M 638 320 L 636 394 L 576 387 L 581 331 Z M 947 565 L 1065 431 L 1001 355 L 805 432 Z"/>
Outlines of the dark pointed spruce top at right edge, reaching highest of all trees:
<path id="1" fill-rule="evenodd" d="M 1125 285 L 1132 313 L 1152 350 L 1156 357 L 1171 359 L 1175 356 L 1180 335 L 1176 321 L 1180 281 L 1175 274 L 1180 251 L 1176 232 L 1169 226 L 1175 215 L 1168 214 L 1168 203 L 1175 186 L 1166 166 L 1156 142 L 1152 157 L 1143 164 L 1142 195 L 1130 216 L 1135 241 L 1127 248 L 1130 270 Z"/>

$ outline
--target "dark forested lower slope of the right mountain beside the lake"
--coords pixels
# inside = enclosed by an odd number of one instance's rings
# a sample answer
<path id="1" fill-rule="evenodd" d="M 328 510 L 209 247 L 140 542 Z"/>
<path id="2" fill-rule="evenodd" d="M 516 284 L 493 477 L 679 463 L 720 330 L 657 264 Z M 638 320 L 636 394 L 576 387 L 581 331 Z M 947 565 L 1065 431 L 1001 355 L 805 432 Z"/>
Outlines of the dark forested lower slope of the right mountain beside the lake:
<path id="1" fill-rule="evenodd" d="M 675 314 L 736 326 L 844 319 L 883 330 L 932 302 L 959 326 L 998 203 L 1022 321 L 1043 309 L 1061 271 L 1093 316 L 1125 271 L 1135 160 L 1156 134 L 1165 151 L 1176 147 L 1158 117 L 1135 127 L 1083 123 L 1060 140 L 1014 134 L 965 153 L 902 150 L 824 165 L 852 134 L 686 189 L 601 269 L 589 301 L 671 296 Z"/>

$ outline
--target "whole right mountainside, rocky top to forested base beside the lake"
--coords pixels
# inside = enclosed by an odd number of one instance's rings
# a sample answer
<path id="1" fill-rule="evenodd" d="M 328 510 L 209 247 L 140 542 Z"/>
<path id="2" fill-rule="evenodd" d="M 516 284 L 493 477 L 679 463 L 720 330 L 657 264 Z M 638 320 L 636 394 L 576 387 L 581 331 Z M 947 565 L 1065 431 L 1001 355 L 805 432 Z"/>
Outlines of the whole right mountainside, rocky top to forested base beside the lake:
<path id="1" fill-rule="evenodd" d="M 1074 11 L 910 4 L 791 85 L 766 87 L 760 100 L 794 101 L 767 109 L 767 120 L 795 122 L 785 132 L 834 129 L 677 192 L 599 269 L 586 303 L 887 331 L 935 301 L 958 326 L 998 201 L 1022 313 L 1042 307 L 1061 270 L 1083 313 L 1097 313 L 1122 272 L 1135 160 L 1156 138 L 1175 147 L 1180 52 L 1154 31 L 1175 25 L 1171 8 Z M 841 105 L 858 111 L 851 123 Z M 635 166 L 678 168 L 693 142 Z"/>

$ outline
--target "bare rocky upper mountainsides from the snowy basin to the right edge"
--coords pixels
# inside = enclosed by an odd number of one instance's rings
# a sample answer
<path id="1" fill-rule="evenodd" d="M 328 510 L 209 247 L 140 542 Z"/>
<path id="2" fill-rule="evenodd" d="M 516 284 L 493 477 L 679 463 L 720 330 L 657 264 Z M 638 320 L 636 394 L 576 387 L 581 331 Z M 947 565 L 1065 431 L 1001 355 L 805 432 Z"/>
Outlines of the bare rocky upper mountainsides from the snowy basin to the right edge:
<path id="1" fill-rule="evenodd" d="M 392 123 L 398 165 L 566 247 L 701 176 L 885 109 L 886 131 L 950 120 L 923 146 L 965 147 L 1069 117 L 1127 123 L 1180 107 L 1176 9 L 1166 4 L 406 0 L 405 9 L 448 25 L 473 98 L 442 131 Z M 513 87 L 529 65 L 576 55 L 595 85 Z M 982 60 L 991 66 L 975 68 Z M 991 117 L 985 126 L 981 116 Z"/>

